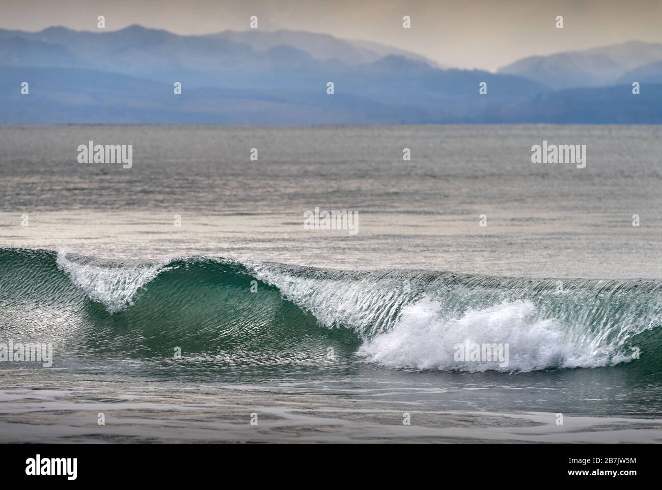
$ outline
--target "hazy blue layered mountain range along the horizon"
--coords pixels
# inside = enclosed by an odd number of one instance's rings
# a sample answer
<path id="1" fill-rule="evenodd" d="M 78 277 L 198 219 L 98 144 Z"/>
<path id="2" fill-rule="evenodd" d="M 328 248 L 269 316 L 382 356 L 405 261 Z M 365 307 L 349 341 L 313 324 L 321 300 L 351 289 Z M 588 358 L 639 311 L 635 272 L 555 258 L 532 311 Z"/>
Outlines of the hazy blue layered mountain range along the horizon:
<path id="1" fill-rule="evenodd" d="M 0 30 L 0 74 L 0 124 L 662 123 L 662 44 L 643 42 L 490 73 L 301 31 L 51 27 Z"/>

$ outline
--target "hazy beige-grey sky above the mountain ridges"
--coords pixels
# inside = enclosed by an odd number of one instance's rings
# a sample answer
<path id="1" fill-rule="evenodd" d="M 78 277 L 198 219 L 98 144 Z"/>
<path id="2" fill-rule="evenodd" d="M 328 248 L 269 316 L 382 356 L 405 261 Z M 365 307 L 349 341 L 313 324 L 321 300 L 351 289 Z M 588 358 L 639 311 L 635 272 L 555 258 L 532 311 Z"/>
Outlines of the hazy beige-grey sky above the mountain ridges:
<path id="1" fill-rule="evenodd" d="M 245 30 L 257 15 L 265 30 L 328 32 L 491 70 L 533 54 L 662 42 L 662 0 L 0 0 L 2 28 L 96 30 L 99 15 L 107 30 L 142 24 L 177 34 Z M 412 28 L 402 28 L 404 15 Z"/>

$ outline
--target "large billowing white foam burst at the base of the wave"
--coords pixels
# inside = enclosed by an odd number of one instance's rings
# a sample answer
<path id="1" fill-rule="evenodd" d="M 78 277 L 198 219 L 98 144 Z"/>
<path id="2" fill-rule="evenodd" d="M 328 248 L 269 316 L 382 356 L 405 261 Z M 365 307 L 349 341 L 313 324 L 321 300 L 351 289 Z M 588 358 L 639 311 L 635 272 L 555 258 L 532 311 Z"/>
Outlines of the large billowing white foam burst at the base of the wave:
<path id="1" fill-rule="evenodd" d="M 458 318 L 444 317 L 441 311 L 442 304 L 428 297 L 404 307 L 395 327 L 365 341 L 357 354 L 389 368 L 467 372 L 528 372 L 613 364 L 608 352 L 600 354 L 587 350 L 591 349 L 590 343 L 575 343 L 559 321 L 540 318 L 528 300 L 470 309 Z M 508 365 L 455 360 L 455 346 L 467 340 L 508 344 Z"/>

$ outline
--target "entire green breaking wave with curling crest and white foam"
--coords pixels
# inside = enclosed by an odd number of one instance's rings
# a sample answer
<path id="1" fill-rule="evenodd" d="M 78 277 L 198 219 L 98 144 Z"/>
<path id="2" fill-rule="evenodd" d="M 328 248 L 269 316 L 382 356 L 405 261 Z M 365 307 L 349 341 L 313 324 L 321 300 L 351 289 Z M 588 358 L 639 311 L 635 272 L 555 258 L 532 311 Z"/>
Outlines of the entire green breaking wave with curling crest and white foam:
<path id="1" fill-rule="evenodd" d="M 128 358 L 171 358 L 177 347 L 237 369 L 656 368 L 662 340 L 655 280 L 343 271 L 222 257 L 109 261 L 0 249 L 0 307 L 1 337 L 15 341 Z M 508 363 L 457 360 L 465 343 L 507 345 Z"/>

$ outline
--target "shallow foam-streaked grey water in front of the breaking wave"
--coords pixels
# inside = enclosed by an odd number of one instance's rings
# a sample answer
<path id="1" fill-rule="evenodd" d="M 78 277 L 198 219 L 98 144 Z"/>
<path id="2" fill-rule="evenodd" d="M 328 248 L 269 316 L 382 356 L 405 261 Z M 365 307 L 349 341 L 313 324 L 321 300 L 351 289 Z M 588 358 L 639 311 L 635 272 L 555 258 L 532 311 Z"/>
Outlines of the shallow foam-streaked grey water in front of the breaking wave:
<path id="1" fill-rule="evenodd" d="M 662 443 L 662 419 L 565 415 L 559 425 L 555 413 L 436 411 L 389 400 L 392 389 L 5 386 L 0 443 Z"/>

